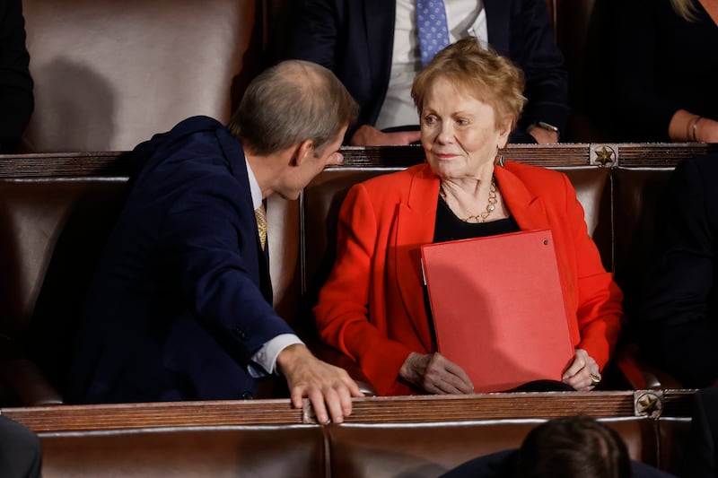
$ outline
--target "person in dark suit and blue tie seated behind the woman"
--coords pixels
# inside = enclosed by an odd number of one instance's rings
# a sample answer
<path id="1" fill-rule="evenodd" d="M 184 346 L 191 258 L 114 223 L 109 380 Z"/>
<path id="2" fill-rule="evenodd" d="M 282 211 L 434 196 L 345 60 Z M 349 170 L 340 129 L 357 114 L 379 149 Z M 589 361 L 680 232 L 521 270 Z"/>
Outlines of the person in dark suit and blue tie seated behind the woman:
<path id="1" fill-rule="evenodd" d="M 556 143 L 568 117 L 567 74 L 545 0 L 444 0 L 451 40 L 476 36 L 526 75 L 529 99 L 512 143 Z M 331 69 L 359 103 L 346 143 L 419 139 L 410 96 L 421 69 L 416 0 L 297 0 L 285 56 Z M 407 127 L 408 126 L 408 127 Z M 416 131 L 391 131 L 411 129 Z M 381 131 L 386 130 L 386 131 Z"/>

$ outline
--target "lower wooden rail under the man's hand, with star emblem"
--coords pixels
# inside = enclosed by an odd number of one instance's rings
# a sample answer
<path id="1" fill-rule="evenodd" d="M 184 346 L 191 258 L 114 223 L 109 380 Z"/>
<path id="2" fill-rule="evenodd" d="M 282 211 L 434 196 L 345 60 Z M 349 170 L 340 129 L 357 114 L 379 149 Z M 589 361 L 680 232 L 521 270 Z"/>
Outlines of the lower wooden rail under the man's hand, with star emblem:
<path id="1" fill-rule="evenodd" d="M 475 422 L 550 419 L 577 414 L 596 418 L 680 417 L 689 416 L 693 393 L 694 390 L 638 390 L 365 397 L 354 399 L 353 413 L 346 417 L 346 422 Z M 652 398 L 657 402 L 652 403 Z M 642 404 L 636 406 L 638 402 Z M 38 432 L 316 423 L 308 401 L 299 410 L 291 406 L 288 398 L 51 405 L 4 408 L 1 412 Z"/>

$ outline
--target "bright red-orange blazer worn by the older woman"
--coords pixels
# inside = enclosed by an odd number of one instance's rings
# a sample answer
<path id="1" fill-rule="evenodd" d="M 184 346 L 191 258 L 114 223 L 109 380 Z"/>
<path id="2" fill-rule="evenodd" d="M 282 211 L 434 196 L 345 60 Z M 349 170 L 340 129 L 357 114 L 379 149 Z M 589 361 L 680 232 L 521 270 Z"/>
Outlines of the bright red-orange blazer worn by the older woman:
<path id="1" fill-rule="evenodd" d="M 623 295 L 574 187 L 565 174 L 514 162 L 497 166 L 495 178 L 521 230 L 552 231 L 575 347 L 602 369 Z M 439 178 L 421 164 L 355 185 L 339 213 L 337 260 L 314 315 L 321 340 L 353 358 L 380 395 L 420 393 L 398 380 L 399 369 L 410 352 L 434 352 L 419 257 L 433 240 L 438 195 Z"/>

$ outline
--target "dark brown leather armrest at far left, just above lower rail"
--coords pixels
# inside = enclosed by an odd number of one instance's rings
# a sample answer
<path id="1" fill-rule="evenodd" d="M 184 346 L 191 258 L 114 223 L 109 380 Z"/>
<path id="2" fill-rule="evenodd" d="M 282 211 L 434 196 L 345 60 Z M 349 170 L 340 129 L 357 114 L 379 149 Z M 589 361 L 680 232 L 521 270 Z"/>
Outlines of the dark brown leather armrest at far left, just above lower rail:
<path id="1" fill-rule="evenodd" d="M 0 361 L 0 381 L 22 406 L 63 404 L 62 395 L 35 363 L 27 359 Z"/>

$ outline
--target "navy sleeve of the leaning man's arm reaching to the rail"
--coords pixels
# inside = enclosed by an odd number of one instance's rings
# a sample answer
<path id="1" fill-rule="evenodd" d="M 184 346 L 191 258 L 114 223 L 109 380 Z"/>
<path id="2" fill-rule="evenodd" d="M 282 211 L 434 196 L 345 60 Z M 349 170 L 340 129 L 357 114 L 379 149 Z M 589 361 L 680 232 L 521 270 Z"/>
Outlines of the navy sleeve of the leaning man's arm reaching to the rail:
<path id="1" fill-rule="evenodd" d="M 229 175 L 194 178 L 162 225 L 158 269 L 179 282 L 197 318 L 241 363 L 268 340 L 293 334 L 260 291 L 257 231 Z M 246 211 L 245 211 L 246 210 Z"/>

